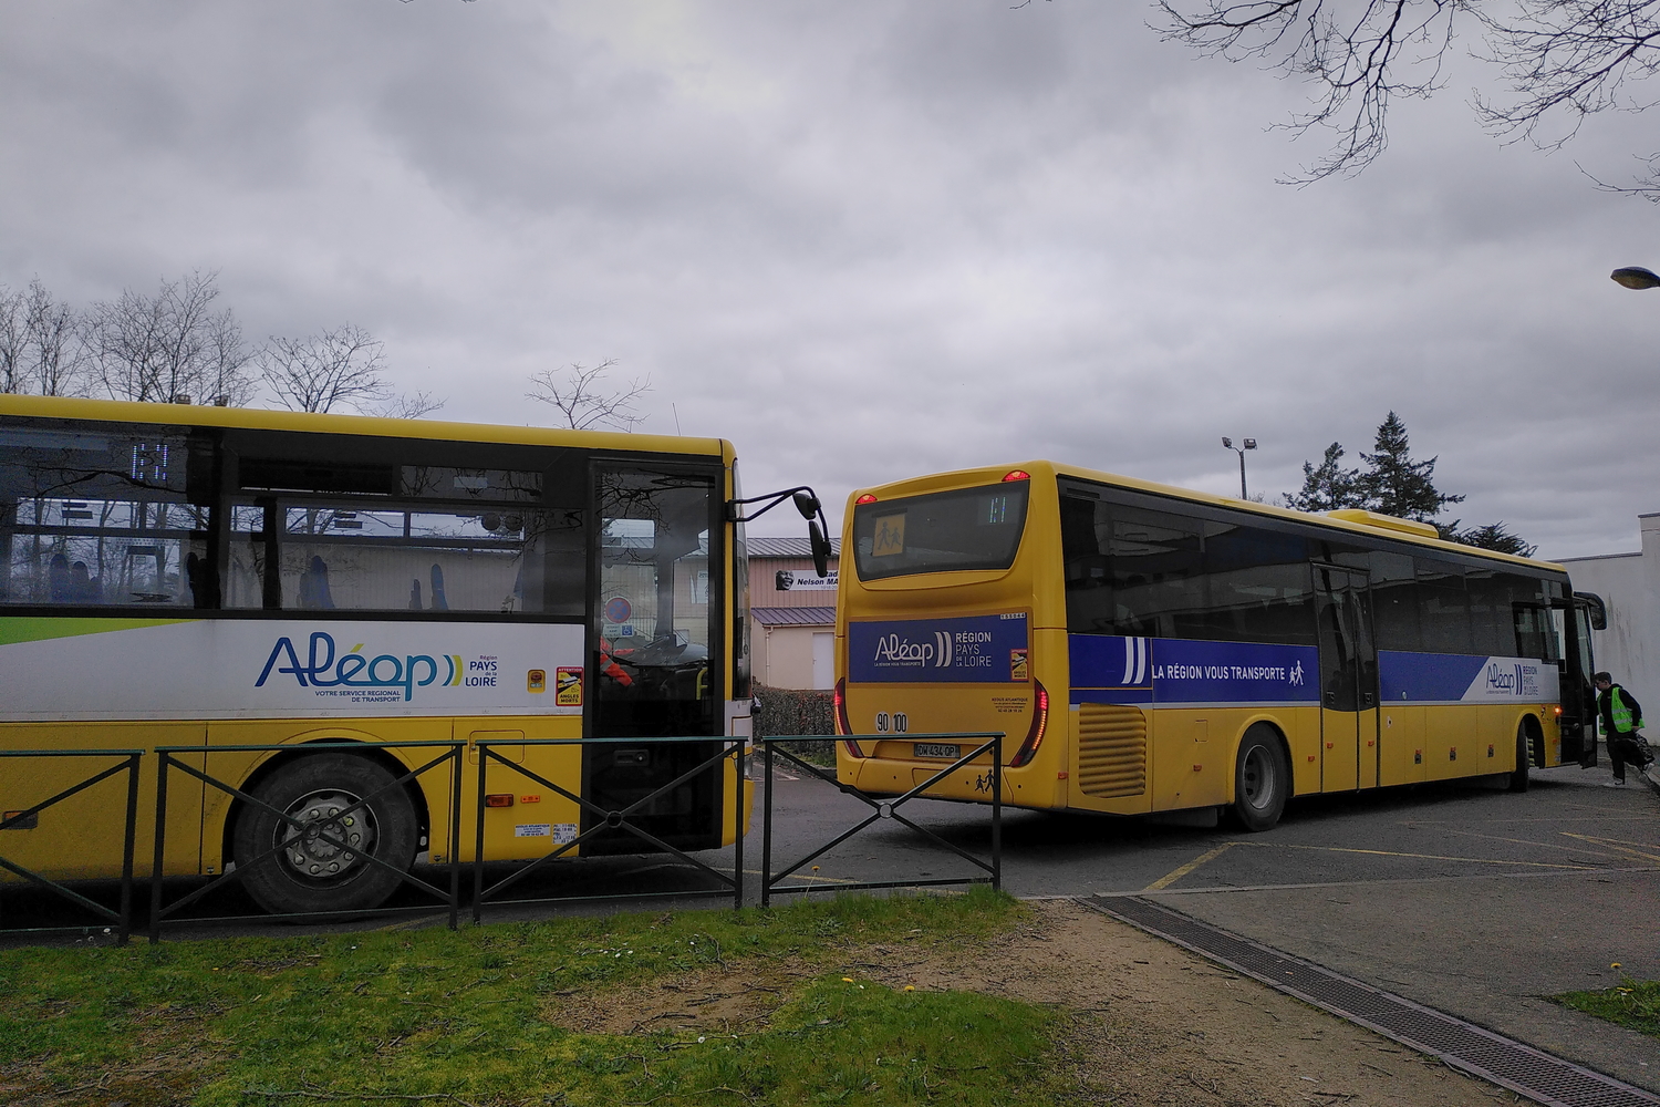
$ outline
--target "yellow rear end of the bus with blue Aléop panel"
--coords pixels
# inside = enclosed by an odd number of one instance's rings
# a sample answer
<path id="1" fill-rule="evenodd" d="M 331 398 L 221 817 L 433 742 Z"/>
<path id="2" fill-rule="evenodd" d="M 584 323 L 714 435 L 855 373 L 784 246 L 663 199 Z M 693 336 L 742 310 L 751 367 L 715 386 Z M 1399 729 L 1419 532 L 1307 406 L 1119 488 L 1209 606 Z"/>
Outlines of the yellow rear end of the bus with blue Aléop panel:
<path id="1" fill-rule="evenodd" d="M 910 792 L 981 742 L 935 735 L 993 730 L 1004 734 L 1003 800 L 1064 805 L 1064 742 L 1044 740 L 1049 689 L 1064 690 L 1066 666 L 1064 619 L 1044 588 L 1054 574 L 1042 573 L 1054 551 L 1023 541 L 1056 531 L 1052 485 L 1031 466 L 855 493 L 842 539 L 853 564 L 843 556 L 837 727 L 868 737 L 838 744 L 843 783 Z M 989 800 L 989 770 L 981 755 L 928 795 Z"/>

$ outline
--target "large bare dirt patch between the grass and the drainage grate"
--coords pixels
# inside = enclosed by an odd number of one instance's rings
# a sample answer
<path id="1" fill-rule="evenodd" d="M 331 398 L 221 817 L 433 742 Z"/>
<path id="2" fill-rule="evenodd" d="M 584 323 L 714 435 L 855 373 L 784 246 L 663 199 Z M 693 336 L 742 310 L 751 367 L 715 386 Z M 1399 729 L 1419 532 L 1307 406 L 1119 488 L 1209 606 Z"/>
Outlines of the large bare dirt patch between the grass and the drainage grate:
<path id="1" fill-rule="evenodd" d="M 959 988 L 1071 1012 L 1057 1054 L 1081 1102 L 1150 1107 L 1466 1107 L 1521 1102 L 1301 1001 L 1067 900 L 979 953 L 896 951 L 883 984 Z M 868 954 L 870 951 L 867 951 Z M 880 956 L 880 954 L 878 954 Z"/>

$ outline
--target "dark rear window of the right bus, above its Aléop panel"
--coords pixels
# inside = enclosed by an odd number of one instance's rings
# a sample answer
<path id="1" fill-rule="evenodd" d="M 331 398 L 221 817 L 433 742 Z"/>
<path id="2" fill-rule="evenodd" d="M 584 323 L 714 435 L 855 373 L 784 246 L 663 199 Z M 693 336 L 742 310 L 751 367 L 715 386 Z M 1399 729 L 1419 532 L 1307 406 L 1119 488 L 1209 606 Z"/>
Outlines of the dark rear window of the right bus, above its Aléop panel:
<path id="1" fill-rule="evenodd" d="M 855 506 L 860 579 L 1008 569 L 1026 528 L 1028 488 L 1028 481 L 1008 481 Z"/>

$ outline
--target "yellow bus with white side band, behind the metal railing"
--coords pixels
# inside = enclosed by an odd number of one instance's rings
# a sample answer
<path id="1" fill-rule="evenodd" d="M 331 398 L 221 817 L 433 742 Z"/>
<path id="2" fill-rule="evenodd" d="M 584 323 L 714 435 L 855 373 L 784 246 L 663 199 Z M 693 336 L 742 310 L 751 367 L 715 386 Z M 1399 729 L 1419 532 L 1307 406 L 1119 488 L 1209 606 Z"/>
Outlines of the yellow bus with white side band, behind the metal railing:
<path id="1" fill-rule="evenodd" d="M 312 744 L 508 742 L 515 763 L 626 808 L 749 732 L 737 488 L 714 438 L 0 397 L 0 749 L 282 745 L 181 762 L 310 828 L 435 753 Z M 710 742 L 644 740 L 671 735 Z M 530 744 L 583 737 L 642 742 Z M 85 778 L 73 760 L 0 760 L 0 808 Z M 171 773 L 161 871 L 264 853 L 239 880 L 269 911 L 377 906 L 400 878 L 362 855 L 473 860 L 476 765 L 470 749 L 460 841 L 448 772 L 369 803 L 349 843 Z M 719 765 L 631 822 L 681 850 L 732 843 L 747 785 L 735 807 L 735 758 Z M 485 860 L 594 828 L 513 772 L 488 782 L 505 795 L 485 805 Z M 118 876 L 111 788 L 15 820 L 0 856 Z M 641 850 L 621 831 L 581 843 Z"/>

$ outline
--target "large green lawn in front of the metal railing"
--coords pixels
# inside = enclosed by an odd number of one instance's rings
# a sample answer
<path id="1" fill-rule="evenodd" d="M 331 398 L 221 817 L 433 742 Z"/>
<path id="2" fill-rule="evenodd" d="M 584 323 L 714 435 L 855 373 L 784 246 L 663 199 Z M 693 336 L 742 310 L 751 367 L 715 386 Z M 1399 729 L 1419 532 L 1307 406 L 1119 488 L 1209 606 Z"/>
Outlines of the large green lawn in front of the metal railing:
<path id="1" fill-rule="evenodd" d="M 850 968 L 878 944 L 948 956 L 1021 914 L 974 890 L 458 933 L 10 949 L 0 1100 L 1049 1104 L 1064 1099 L 1044 1064 L 1062 1014 L 928 981 L 890 988 Z M 765 1011 L 696 1032 L 646 1017 L 644 999 L 710 978 L 754 981 Z M 622 1026 L 631 1004 L 641 1022 Z M 573 1011 L 606 1012 L 611 1032 Z"/>

